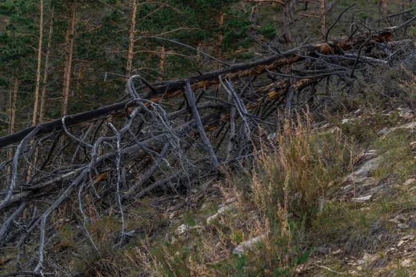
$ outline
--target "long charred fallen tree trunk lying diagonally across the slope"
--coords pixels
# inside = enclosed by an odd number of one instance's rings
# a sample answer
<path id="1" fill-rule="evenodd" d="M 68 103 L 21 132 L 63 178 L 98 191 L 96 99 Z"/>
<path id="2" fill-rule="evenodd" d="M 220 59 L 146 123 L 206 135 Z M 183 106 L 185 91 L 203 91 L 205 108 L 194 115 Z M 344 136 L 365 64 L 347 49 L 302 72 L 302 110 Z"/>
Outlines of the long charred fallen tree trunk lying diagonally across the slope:
<path id="1" fill-rule="evenodd" d="M 248 62 L 243 64 L 234 64 L 225 69 L 219 69 L 211 71 L 202 75 L 197 75 L 191 78 L 182 80 L 173 80 L 168 82 L 159 82 L 152 85 L 152 89 L 141 94 L 140 98 L 147 99 L 152 102 L 158 102 L 159 100 L 166 98 L 173 98 L 182 93 L 185 80 L 189 80 L 191 88 L 193 90 L 202 87 L 209 87 L 213 84 L 218 84 L 218 76 L 222 76 L 225 80 L 230 78 L 236 80 L 236 78 L 243 78 L 247 76 L 260 75 L 266 72 L 266 69 L 272 71 L 286 66 L 288 64 L 294 64 L 300 62 L 306 57 L 317 57 L 316 53 L 330 54 L 330 55 L 343 55 L 343 51 L 352 48 L 360 48 L 363 44 L 367 44 L 370 47 L 374 42 L 390 42 L 393 31 L 395 28 L 384 28 L 374 30 L 372 33 L 360 32 L 356 33 L 353 37 L 347 35 L 336 37 L 329 42 L 321 42 L 318 44 L 308 44 L 299 48 L 287 51 L 285 53 L 277 53 L 263 60 Z M 370 37 L 368 37 L 370 35 Z M 122 116 L 125 113 L 125 109 L 139 107 L 137 102 L 125 100 L 123 102 L 109 105 L 92 111 L 85 111 L 80 114 L 74 114 L 67 116 L 65 124 L 67 127 L 78 125 L 80 123 L 89 123 L 95 120 L 101 120 L 106 118 L 114 118 L 116 116 Z M 42 129 L 38 134 L 46 134 L 52 132 L 53 129 L 58 130 L 62 128 L 62 119 L 52 120 L 39 125 Z M 16 143 L 29 134 L 35 127 L 29 127 L 21 130 L 15 134 L 3 136 L 0 138 L 0 148 Z"/>

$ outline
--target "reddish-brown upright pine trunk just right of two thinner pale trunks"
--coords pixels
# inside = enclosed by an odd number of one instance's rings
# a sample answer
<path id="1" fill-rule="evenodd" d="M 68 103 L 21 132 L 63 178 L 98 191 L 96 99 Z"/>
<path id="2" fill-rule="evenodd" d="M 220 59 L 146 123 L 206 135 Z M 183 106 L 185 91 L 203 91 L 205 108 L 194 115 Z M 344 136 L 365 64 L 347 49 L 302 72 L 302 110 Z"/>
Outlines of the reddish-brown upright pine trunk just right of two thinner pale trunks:
<path id="1" fill-rule="evenodd" d="M 76 21 L 76 1 L 71 5 L 71 17 L 68 22 L 67 34 L 65 42 L 67 48 L 65 50 L 65 67 L 64 67 L 64 90 L 62 93 L 62 116 L 68 111 L 69 84 L 71 83 L 71 66 L 73 55 L 73 41 L 75 39 L 75 21 Z"/>

